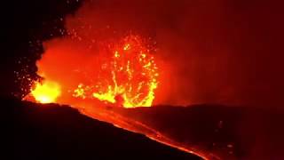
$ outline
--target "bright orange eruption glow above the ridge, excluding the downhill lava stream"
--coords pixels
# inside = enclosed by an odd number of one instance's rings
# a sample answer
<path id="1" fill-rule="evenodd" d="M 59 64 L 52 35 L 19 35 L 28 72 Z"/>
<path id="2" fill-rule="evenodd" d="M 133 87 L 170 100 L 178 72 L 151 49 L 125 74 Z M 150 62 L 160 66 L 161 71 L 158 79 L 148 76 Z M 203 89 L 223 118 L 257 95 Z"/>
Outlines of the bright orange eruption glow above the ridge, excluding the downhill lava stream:
<path id="1" fill-rule="evenodd" d="M 28 97 L 41 103 L 76 105 L 84 100 L 90 105 L 100 101 L 99 105 L 124 108 L 152 106 L 159 73 L 145 39 L 129 35 L 102 40 L 98 50 L 91 52 L 93 57 L 85 55 L 61 48 L 47 50 L 37 62 L 45 81 L 35 83 Z"/>

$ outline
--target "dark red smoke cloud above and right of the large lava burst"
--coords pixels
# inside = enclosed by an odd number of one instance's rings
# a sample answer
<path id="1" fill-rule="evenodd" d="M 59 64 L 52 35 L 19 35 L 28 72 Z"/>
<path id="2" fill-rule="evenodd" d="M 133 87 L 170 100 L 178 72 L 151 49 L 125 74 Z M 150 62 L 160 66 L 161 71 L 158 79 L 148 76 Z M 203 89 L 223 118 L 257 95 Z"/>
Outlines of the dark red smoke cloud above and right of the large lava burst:
<path id="1" fill-rule="evenodd" d="M 63 38 L 71 44 L 62 46 L 80 50 L 76 56 L 88 58 L 96 50 L 88 49 L 91 42 L 99 39 L 128 32 L 152 37 L 161 68 L 155 104 L 279 107 L 284 93 L 280 4 L 89 0 L 67 17 L 66 28 L 75 37 Z M 52 44 L 56 43 L 46 43 L 47 52 Z"/>

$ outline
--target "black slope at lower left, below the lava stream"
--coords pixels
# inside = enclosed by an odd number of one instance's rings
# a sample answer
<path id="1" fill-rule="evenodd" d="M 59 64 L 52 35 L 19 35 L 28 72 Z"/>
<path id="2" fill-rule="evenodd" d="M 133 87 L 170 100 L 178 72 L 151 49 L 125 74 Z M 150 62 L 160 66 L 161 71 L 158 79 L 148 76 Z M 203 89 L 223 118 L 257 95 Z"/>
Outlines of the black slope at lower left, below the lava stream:
<path id="1" fill-rule="evenodd" d="M 0 159 L 201 159 L 73 108 L 1 101 Z"/>

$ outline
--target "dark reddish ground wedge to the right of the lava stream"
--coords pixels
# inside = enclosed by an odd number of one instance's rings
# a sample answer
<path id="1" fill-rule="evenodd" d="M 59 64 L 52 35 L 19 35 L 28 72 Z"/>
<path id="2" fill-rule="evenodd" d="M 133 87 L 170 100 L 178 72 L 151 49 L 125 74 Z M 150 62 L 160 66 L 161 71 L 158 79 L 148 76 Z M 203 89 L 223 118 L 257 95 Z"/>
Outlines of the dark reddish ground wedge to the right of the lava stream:
<path id="1" fill-rule="evenodd" d="M 284 159 L 284 111 L 280 109 L 220 105 L 114 109 L 209 157 Z"/>

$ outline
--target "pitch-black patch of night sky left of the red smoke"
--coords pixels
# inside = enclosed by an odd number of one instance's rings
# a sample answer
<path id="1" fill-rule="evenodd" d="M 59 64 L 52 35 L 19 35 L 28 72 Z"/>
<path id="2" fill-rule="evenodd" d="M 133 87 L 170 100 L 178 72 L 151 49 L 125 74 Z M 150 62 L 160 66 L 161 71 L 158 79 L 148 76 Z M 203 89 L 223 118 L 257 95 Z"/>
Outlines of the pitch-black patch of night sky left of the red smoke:
<path id="1" fill-rule="evenodd" d="M 5 1 L 1 6 L 3 50 L 1 52 L 1 95 L 20 96 L 27 80 L 17 81 L 19 75 L 36 78 L 36 60 L 43 53 L 43 40 L 60 36 L 64 29 L 61 20 L 75 12 L 81 3 L 76 1 Z M 26 78 L 27 79 L 27 78 Z M 26 88 L 27 90 L 28 88 Z"/>

